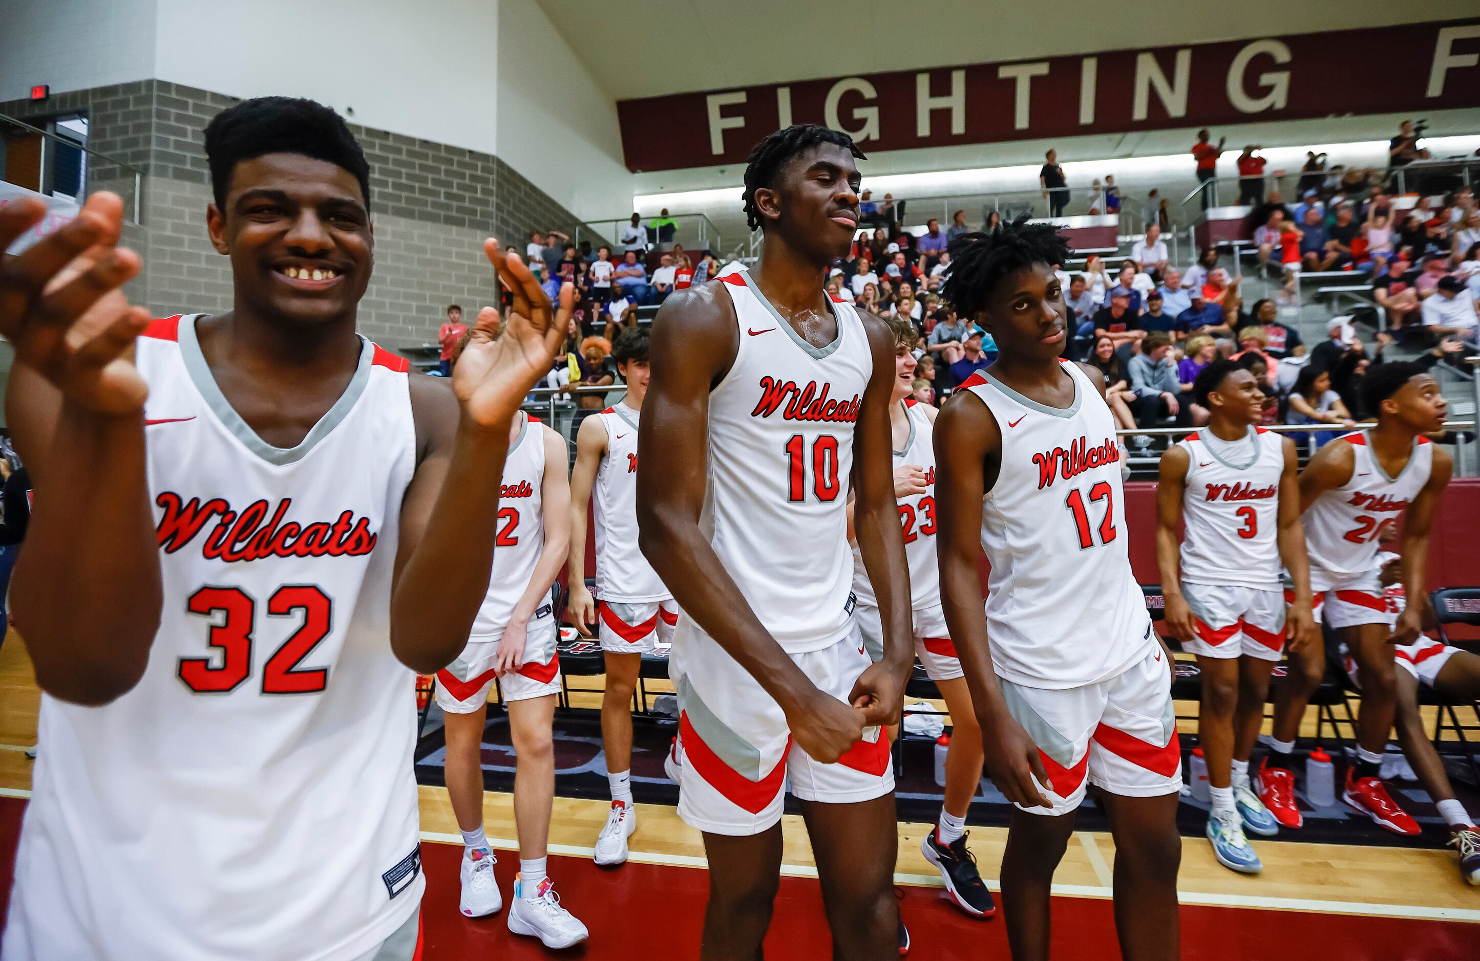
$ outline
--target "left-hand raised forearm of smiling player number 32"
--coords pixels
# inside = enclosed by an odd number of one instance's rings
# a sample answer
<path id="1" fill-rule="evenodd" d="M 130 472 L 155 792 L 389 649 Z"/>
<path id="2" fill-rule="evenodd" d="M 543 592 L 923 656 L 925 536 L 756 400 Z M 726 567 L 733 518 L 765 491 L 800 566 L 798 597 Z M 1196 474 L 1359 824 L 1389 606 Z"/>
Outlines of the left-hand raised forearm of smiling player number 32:
<path id="1" fill-rule="evenodd" d="M 126 693 L 160 624 L 160 557 L 144 415 L 62 404 L 33 464 L 36 504 L 10 596 L 36 680 L 77 704 Z"/>

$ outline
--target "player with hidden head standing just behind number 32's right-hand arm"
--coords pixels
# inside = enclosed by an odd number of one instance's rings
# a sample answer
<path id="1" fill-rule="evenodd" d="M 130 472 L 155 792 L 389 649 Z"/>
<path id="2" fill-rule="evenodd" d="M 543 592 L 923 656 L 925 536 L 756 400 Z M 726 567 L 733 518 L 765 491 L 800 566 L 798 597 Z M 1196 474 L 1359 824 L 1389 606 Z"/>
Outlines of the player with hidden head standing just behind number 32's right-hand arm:
<path id="1" fill-rule="evenodd" d="M 447 795 L 463 835 L 459 909 L 477 918 L 503 905 L 482 831 L 482 729 L 497 677 L 509 713 L 519 838 L 509 930 L 539 937 L 546 948 L 570 948 L 586 940 L 586 926 L 561 906 L 546 872 L 555 803 L 552 724 L 561 690 L 551 585 L 570 543 L 570 482 L 565 439 L 524 414 L 511 427 L 499 504 L 487 596 L 468 646 L 437 671 L 437 704 L 447 719 Z"/>

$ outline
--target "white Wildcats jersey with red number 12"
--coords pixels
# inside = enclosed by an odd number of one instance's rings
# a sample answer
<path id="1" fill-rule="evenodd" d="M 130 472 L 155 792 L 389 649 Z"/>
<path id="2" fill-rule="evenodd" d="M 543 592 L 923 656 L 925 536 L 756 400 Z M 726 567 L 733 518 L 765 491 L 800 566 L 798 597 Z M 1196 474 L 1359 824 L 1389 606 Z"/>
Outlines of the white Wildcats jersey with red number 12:
<path id="1" fill-rule="evenodd" d="M 1064 410 L 987 371 L 962 383 L 1002 432 L 1002 464 L 981 503 L 992 661 L 1027 687 L 1114 677 L 1154 643 L 1126 551 L 1114 417 L 1079 365 L 1063 364 L 1074 378 Z"/>

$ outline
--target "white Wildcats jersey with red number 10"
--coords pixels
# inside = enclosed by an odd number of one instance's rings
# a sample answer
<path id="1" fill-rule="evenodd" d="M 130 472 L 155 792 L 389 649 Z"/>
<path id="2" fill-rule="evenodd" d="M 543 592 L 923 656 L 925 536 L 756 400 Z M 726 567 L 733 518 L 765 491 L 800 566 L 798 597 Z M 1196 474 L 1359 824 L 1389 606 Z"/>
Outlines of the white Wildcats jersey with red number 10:
<path id="1" fill-rule="evenodd" d="M 700 526 L 781 649 L 821 651 L 852 627 L 848 473 L 873 374 L 869 337 L 852 305 L 830 302 L 838 336 L 814 347 L 749 271 L 719 281 L 740 346 L 709 395 Z"/>

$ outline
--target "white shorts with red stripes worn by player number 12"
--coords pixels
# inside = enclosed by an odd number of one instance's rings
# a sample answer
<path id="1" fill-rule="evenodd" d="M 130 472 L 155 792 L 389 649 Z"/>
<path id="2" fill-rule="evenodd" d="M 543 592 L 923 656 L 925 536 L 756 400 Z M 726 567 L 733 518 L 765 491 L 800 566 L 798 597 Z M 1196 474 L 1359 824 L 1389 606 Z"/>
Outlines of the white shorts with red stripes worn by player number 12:
<path id="1" fill-rule="evenodd" d="M 1172 671 L 1160 645 L 1150 645 L 1143 659 L 1094 685 L 1054 690 L 1000 677 L 998 683 L 1008 711 L 1037 744 L 1054 785 L 1037 785 L 1054 807 L 1023 807 L 1030 815 L 1067 815 L 1079 807 L 1086 776 L 1123 797 L 1181 789 Z"/>

